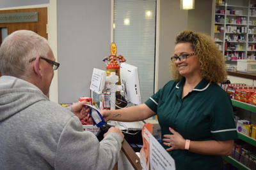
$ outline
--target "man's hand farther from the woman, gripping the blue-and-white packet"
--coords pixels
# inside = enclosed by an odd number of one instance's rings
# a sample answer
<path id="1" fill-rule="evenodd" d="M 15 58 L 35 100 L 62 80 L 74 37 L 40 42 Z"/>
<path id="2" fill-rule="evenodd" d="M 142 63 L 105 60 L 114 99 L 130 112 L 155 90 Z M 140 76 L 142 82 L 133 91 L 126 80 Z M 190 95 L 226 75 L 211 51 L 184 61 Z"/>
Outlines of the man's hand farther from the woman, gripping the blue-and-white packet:
<path id="1" fill-rule="evenodd" d="M 85 106 L 85 104 L 90 104 L 86 101 L 81 101 L 74 103 L 72 107 L 73 113 L 81 120 L 85 117 L 87 117 L 88 112 L 90 111 L 90 108 L 88 106 Z"/>

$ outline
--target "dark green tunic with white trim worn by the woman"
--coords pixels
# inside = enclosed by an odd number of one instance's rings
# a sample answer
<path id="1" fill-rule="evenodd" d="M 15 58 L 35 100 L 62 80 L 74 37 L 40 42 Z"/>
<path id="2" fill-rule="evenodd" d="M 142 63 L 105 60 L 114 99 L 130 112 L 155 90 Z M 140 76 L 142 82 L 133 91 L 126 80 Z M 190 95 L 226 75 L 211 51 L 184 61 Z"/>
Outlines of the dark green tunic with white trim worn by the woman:
<path id="1" fill-rule="evenodd" d="M 162 136 L 171 134 L 169 127 L 172 127 L 184 139 L 191 141 L 236 139 L 232 103 L 227 92 L 216 83 L 210 84 L 203 79 L 182 99 L 185 80 L 182 78 L 178 83 L 169 81 L 145 103 L 157 113 Z M 175 160 L 177 170 L 223 170 L 221 156 L 202 155 L 188 150 L 169 153 Z"/>

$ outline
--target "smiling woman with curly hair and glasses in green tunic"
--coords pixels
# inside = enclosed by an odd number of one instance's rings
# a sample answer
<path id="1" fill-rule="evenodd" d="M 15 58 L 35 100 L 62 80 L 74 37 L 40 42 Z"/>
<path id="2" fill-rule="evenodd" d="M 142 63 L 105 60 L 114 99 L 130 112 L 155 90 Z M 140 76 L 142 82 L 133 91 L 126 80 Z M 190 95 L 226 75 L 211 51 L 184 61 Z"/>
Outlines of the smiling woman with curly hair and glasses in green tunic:
<path id="1" fill-rule="evenodd" d="M 177 170 L 222 170 L 237 138 L 230 97 L 218 85 L 227 80 L 223 55 L 207 34 L 182 31 L 170 62 L 173 80 L 144 104 L 100 113 L 125 122 L 157 115 Z"/>

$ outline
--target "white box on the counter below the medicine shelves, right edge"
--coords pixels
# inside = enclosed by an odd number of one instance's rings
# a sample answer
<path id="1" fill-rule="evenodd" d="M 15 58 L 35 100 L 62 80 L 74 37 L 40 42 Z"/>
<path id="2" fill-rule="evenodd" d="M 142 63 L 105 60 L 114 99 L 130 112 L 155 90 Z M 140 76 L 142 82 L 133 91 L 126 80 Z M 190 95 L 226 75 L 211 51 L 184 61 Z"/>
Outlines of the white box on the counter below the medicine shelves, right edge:
<path id="1" fill-rule="evenodd" d="M 237 71 L 256 73 L 256 60 L 237 60 Z"/>

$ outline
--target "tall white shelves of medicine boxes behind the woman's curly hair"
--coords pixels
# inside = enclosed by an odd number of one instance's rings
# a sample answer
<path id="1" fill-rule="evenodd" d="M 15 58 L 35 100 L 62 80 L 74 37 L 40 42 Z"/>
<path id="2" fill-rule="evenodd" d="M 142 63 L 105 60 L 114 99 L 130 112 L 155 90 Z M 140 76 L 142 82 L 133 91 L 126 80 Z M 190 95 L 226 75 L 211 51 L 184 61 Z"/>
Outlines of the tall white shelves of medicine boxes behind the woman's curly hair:
<path id="1" fill-rule="evenodd" d="M 212 37 L 225 60 L 255 59 L 255 0 L 223 0 L 214 5 Z M 254 13 L 255 11 L 255 13 Z M 253 14 L 253 15 L 252 15 Z"/>

